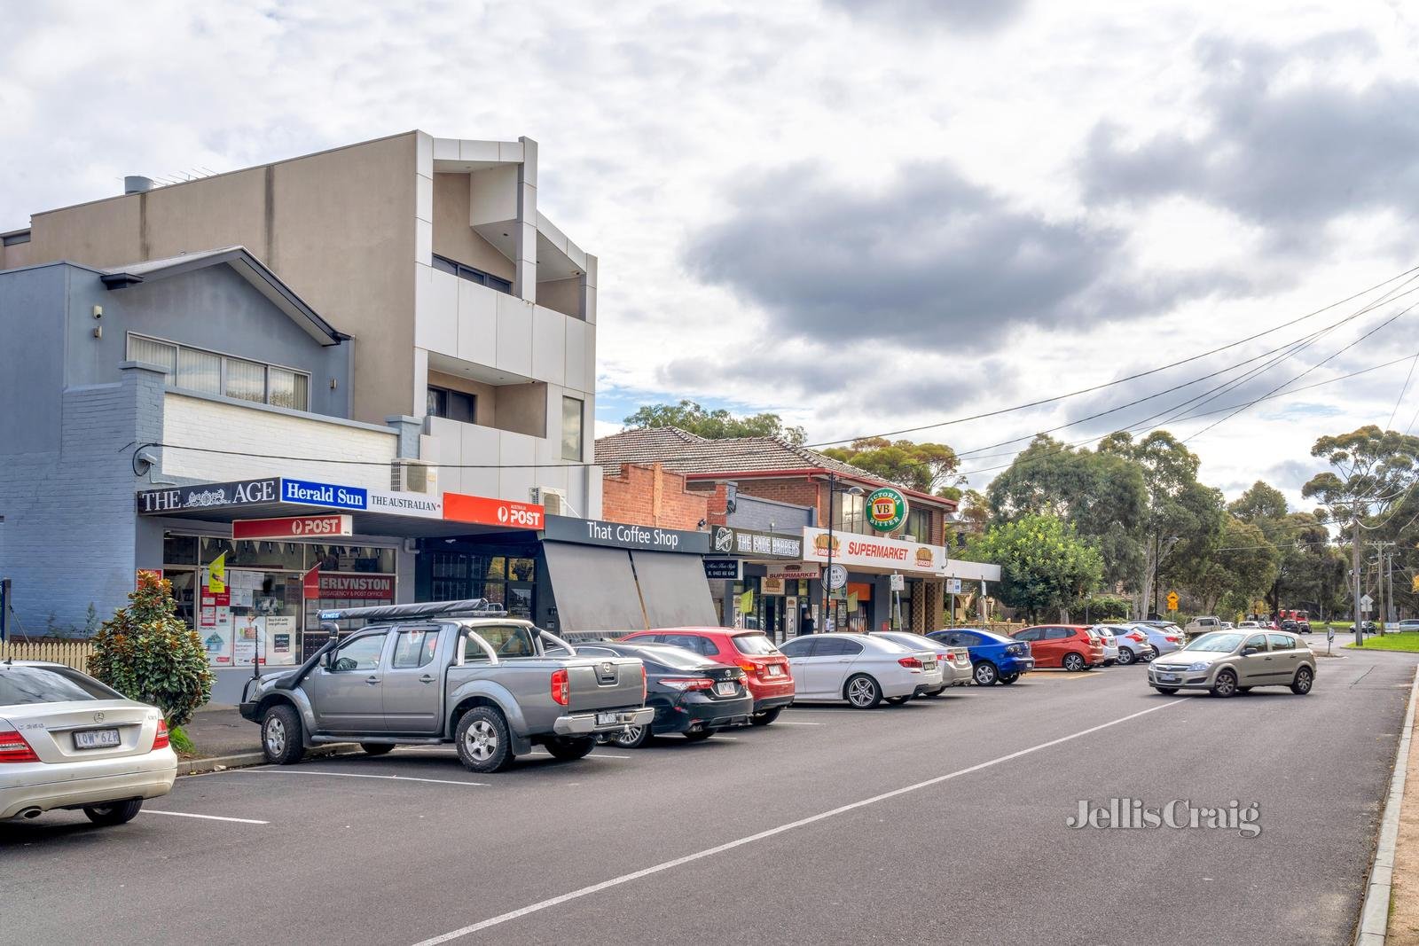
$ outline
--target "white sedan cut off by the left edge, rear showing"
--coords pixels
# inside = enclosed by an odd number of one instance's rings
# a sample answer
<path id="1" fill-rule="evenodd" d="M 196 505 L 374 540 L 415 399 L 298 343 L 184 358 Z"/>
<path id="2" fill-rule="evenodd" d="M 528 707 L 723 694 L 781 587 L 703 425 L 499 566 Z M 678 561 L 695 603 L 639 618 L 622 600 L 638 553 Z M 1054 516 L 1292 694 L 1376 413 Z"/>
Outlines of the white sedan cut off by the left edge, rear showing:
<path id="1" fill-rule="evenodd" d="M 62 664 L 0 664 L 0 821 L 82 808 L 123 824 L 176 777 L 162 711 Z"/>

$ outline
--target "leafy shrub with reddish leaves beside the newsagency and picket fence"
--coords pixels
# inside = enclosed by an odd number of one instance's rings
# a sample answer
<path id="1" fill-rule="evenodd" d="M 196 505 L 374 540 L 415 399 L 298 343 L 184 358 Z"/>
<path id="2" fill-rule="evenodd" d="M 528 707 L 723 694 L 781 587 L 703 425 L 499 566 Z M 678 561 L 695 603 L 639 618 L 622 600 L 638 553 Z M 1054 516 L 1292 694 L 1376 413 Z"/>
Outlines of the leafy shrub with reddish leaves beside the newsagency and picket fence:
<path id="1" fill-rule="evenodd" d="M 177 617 L 170 581 L 140 572 L 128 600 L 94 637 L 89 672 L 129 699 L 160 708 L 175 729 L 211 698 L 207 651 Z"/>

